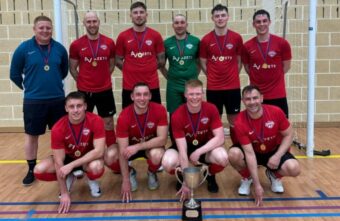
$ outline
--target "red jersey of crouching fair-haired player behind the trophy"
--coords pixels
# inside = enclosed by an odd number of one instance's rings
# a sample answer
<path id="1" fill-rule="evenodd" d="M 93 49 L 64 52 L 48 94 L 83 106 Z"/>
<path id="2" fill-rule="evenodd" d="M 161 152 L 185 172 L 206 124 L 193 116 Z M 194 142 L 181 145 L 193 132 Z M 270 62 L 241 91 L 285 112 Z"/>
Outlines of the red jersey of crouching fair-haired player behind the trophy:
<path id="1" fill-rule="evenodd" d="M 222 127 L 222 122 L 216 106 L 202 102 L 201 111 L 195 114 L 189 113 L 187 104 L 179 106 L 172 114 L 171 127 L 175 139 L 184 137 L 187 143 L 196 139 L 204 144 L 214 136 L 214 129 Z"/>

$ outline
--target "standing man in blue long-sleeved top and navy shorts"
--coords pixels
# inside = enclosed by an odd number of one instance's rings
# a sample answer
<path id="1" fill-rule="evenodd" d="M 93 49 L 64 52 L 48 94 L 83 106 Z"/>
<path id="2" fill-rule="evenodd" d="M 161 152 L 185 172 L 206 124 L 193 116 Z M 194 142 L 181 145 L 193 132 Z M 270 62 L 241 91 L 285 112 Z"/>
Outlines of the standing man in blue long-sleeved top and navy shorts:
<path id="1" fill-rule="evenodd" d="M 24 90 L 25 158 L 28 172 L 23 185 L 34 181 L 39 136 L 46 125 L 53 124 L 65 115 L 63 79 L 68 72 L 67 51 L 52 39 L 52 21 L 46 16 L 34 19 L 34 36 L 15 50 L 10 79 Z"/>

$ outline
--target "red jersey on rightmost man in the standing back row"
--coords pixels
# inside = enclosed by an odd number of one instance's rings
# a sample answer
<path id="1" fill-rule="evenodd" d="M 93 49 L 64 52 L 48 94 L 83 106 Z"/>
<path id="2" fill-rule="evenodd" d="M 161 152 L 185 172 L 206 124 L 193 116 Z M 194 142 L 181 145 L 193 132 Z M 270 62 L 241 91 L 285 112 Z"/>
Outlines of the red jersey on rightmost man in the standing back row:
<path id="1" fill-rule="evenodd" d="M 264 99 L 286 97 L 282 62 L 291 59 L 289 43 L 276 35 L 267 42 L 258 43 L 254 37 L 244 44 L 242 62 L 249 66 L 250 84 L 259 87 Z"/>

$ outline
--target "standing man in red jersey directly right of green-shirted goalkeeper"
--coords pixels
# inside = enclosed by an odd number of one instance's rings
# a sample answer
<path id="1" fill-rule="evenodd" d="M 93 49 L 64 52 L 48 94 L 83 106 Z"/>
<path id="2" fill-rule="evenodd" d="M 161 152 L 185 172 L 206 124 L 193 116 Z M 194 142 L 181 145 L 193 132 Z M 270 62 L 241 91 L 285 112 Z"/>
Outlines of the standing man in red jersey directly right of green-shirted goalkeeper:
<path id="1" fill-rule="evenodd" d="M 200 60 L 207 75 L 207 100 L 216 105 L 220 115 L 227 112 L 230 135 L 234 142 L 234 120 L 240 112 L 241 35 L 227 27 L 228 8 L 218 4 L 211 10 L 214 30 L 200 44 Z"/>

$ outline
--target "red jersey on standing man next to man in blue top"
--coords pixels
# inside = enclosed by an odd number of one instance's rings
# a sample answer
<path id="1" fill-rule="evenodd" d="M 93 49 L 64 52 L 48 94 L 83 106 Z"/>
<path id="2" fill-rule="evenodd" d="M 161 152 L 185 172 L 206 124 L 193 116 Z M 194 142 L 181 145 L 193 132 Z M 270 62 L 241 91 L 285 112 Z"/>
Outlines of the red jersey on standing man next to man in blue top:
<path id="1" fill-rule="evenodd" d="M 79 62 L 79 90 L 102 92 L 112 88 L 110 59 L 115 57 L 115 50 L 114 41 L 102 34 L 97 40 L 89 40 L 87 35 L 84 35 L 72 42 L 70 58 Z"/>

